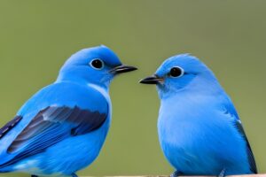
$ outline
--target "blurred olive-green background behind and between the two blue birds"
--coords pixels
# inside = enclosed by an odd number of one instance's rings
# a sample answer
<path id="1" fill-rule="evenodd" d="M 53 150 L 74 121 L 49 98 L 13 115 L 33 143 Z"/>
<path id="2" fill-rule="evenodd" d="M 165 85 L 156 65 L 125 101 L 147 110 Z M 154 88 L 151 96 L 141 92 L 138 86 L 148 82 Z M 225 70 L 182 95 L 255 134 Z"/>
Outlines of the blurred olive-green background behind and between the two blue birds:
<path id="1" fill-rule="evenodd" d="M 0 124 L 54 81 L 71 54 L 105 44 L 139 70 L 113 81 L 112 127 L 98 159 L 79 174 L 171 173 L 157 139 L 156 89 L 137 81 L 189 52 L 231 95 L 265 173 L 265 17 L 263 0 L 1 0 Z"/>

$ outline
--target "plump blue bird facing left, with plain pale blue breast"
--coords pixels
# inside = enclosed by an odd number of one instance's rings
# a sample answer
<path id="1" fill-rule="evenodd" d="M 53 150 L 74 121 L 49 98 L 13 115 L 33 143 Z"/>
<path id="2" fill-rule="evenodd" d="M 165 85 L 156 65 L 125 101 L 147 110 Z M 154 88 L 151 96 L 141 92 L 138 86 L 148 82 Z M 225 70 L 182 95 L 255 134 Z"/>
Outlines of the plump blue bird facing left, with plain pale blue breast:
<path id="1" fill-rule="evenodd" d="M 214 73 L 188 54 L 168 58 L 153 76 L 160 97 L 160 147 L 178 175 L 257 173 L 239 115 Z"/>

